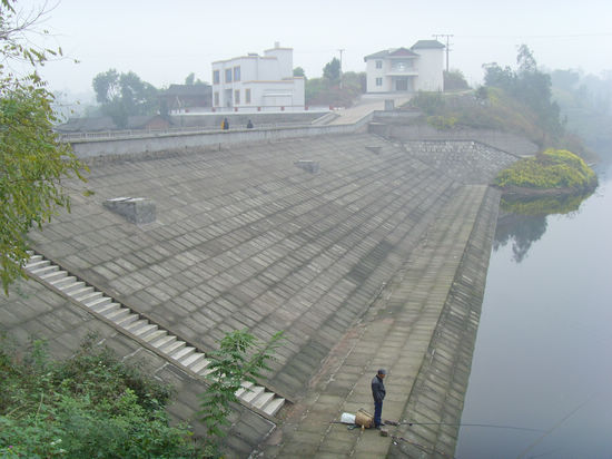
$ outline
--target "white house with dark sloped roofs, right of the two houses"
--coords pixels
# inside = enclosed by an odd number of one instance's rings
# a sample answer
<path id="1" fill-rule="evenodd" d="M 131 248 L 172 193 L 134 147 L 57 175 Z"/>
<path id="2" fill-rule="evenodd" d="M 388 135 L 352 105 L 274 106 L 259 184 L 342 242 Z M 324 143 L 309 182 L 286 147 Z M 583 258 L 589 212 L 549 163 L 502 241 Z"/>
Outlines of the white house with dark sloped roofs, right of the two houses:
<path id="1" fill-rule="evenodd" d="M 437 40 L 419 40 L 366 56 L 367 92 L 442 91 L 444 48 Z"/>

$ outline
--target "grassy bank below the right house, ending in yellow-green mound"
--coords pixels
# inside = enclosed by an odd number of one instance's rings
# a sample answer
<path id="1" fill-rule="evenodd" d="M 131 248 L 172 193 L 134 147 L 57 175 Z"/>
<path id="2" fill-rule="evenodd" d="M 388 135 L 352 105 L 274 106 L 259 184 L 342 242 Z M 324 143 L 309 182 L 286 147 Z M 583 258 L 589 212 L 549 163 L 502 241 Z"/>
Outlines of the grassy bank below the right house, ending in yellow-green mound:
<path id="1" fill-rule="evenodd" d="M 551 128 L 551 124 L 529 106 L 500 88 L 481 88 L 462 95 L 418 94 L 411 105 L 423 111 L 417 123 L 436 129 L 497 129 L 523 136 L 540 146 L 542 153 L 516 162 L 496 177 L 495 185 L 506 193 L 584 194 L 598 185 L 596 175 L 582 159 L 593 159 L 594 155 L 580 138 Z"/>

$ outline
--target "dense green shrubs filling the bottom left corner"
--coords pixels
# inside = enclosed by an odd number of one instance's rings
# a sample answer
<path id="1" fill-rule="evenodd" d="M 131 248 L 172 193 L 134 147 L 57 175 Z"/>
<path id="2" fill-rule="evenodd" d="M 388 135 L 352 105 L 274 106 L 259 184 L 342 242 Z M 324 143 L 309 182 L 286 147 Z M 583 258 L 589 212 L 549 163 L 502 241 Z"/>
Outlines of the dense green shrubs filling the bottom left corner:
<path id="1" fill-rule="evenodd" d="M 185 426 L 169 426 L 171 391 L 92 339 L 59 362 L 41 342 L 23 359 L 0 344 L 0 457 L 201 456 Z"/>

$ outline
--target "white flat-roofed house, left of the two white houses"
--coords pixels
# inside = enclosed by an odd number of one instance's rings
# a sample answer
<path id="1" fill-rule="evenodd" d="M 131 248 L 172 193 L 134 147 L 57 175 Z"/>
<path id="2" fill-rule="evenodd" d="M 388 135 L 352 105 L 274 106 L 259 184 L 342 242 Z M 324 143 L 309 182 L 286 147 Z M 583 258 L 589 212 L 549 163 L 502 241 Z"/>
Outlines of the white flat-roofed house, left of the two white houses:
<path id="1" fill-rule="evenodd" d="M 293 48 L 278 42 L 264 56 L 248 53 L 213 62 L 213 109 L 304 110 L 304 78 L 294 77 L 293 64 Z"/>

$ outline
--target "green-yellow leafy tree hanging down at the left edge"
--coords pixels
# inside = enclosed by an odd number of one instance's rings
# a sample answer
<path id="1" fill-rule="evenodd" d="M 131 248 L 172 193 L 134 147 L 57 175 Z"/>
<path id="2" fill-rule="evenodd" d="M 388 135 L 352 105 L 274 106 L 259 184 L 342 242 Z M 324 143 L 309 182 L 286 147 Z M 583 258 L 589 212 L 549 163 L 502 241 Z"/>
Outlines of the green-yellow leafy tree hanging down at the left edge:
<path id="1" fill-rule="evenodd" d="M 0 277 L 6 294 L 18 276 L 26 277 L 28 231 L 41 228 L 58 208 L 70 208 L 63 183 L 85 180 L 87 170 L 52 131 L 53 95 L 37 71 L 61 50 L 30 46 L 26 36 L 36 21 L 21 20 L 14 3 L 0 0 Z M 16 75 L 14 61 L 27 62 L 29 71 Z"/>

